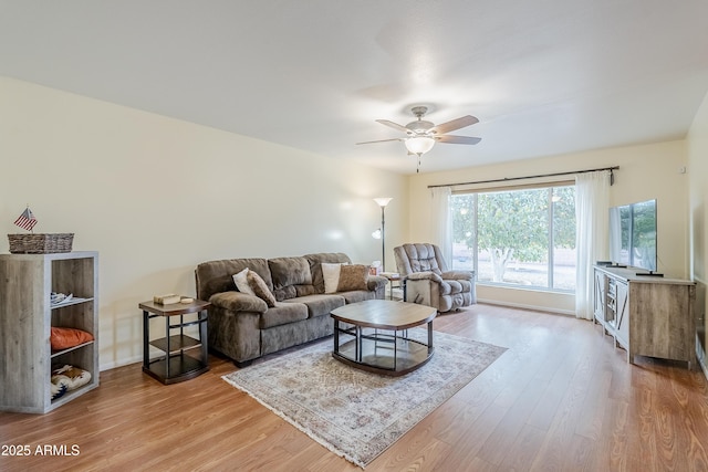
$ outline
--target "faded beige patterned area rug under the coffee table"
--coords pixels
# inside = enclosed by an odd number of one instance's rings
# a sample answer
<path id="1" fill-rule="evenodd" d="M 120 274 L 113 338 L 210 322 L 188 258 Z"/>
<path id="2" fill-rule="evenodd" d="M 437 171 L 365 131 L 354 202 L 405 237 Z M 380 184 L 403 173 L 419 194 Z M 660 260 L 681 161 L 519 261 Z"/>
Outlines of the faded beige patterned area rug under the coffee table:
<path id="1" fill-rule="evenodd" d="M 427 342 L 427 329 L 408 335 Z M 506 350 L 438 332 L 434 346 L 428 364 L 400 377 L 334 359 L 330 338 L 222 378 L 363 469 Z"/>

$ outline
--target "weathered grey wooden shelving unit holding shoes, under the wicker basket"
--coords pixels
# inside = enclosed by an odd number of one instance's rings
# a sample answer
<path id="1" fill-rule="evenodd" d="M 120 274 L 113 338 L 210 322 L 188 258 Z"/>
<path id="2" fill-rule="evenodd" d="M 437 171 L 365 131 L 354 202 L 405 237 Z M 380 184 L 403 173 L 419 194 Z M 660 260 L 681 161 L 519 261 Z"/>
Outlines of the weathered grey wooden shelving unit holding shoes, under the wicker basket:
<path id="1" fill-rule="evenodd" d="M 98 253 L 0 254 L 0 410 L 45 413 L 98 386 Z M 73 294 L 52 304 L 52 292 Z M 52 326 L 94 340 L 52 352 Z M 91 381 L 51 400 L 53 366 L 91 373 Z"/>

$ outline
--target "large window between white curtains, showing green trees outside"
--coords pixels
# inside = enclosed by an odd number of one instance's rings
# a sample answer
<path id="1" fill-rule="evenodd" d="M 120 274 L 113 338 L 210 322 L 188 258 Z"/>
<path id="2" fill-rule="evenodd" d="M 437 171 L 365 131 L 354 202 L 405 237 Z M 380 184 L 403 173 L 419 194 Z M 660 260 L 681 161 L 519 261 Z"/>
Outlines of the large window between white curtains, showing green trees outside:
<path id="1" fill-rule="evenodd" d="M 575 290 L 575 187 L 450 197 L 452 269 L 479 283 Z"/>

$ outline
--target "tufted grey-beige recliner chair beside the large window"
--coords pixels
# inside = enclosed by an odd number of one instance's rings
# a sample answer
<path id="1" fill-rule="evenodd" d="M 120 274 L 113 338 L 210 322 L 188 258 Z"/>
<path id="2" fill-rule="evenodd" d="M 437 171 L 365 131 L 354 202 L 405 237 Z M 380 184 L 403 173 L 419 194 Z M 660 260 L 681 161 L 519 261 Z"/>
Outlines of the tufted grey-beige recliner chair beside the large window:
<path id="1" fill-rule="evenodd" d="M 396 266 L 405 284 L 405 301 L 445 313 L 477 303 L 473 271 L 450 271 L 440 248 L 429 243 L 394 248 Z"/>

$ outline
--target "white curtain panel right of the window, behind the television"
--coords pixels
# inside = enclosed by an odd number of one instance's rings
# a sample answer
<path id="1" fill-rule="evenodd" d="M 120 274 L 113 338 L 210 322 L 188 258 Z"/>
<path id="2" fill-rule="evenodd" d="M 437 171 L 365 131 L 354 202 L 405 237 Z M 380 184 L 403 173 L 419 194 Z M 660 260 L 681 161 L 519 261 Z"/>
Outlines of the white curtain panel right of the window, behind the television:
<path id="1" fill-rule="evenodd" d="M 610 172 L 575 176 L 575 316 L 593 318 L 593 264 L 608 256 Z"/>

